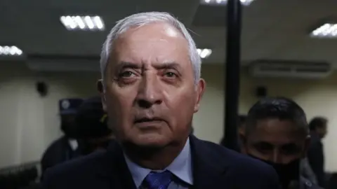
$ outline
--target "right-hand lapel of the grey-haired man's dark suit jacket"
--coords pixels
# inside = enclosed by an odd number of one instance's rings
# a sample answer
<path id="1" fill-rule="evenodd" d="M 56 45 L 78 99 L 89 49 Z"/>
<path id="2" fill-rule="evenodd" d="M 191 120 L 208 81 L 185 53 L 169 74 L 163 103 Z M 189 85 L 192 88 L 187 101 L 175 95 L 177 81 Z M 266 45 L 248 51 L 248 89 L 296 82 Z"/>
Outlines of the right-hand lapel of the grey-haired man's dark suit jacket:
<path id="1" fill-rule="evenodd" d="M 228 167 L 225 157 L 218 157 L 209 149 L 205 141 L 190 136 L 192 151 L 193 188 L 219 188 L 223 185 L 224 174 Z"/>

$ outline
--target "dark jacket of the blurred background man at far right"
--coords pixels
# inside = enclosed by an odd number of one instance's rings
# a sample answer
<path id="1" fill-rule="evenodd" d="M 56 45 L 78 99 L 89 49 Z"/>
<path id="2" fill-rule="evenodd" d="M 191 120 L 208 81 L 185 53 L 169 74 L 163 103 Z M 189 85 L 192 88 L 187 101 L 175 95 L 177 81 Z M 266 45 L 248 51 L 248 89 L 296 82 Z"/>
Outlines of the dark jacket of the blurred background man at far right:
<path id="1" fill-rule="evenodd" d="M 308 150 L 308 162 L 315 173 L 319 186 L 325 187 L 324 173 L 324 151 L 323 144 L 319 136 L 315 133 L 311 134 L 311 143 Z"/>

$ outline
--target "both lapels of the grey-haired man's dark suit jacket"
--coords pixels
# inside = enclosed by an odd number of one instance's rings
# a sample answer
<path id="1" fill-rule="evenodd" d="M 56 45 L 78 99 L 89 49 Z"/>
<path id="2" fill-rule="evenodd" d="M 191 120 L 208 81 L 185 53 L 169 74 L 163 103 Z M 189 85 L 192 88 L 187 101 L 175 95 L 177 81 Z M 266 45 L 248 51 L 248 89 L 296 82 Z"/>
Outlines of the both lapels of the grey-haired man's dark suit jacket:
<path id="1" fill-rule="evenodd" d="M 190 136 L 192 153 L 193 188 L 218 188 L 225 183 L 225 172 L 229 166 L 225 157 L 214 153 L 206 141 L 201 141 Z M 104 158 L 99 162 L 98 177 L 110 182 L 113 189 L 136 189 L 128 166 L 126 165 L 123 151 L 117 141 L 112 141 L 105 152 Z M 232 189 L 232 188 L 230 188 Z"/>

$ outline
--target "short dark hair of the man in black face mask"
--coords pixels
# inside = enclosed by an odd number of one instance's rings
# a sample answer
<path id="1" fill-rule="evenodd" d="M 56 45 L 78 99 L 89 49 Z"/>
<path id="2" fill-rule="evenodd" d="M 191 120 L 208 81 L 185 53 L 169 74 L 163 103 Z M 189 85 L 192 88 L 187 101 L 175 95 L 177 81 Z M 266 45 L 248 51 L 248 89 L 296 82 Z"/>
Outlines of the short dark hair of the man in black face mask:
<path id="1" fill-rule="evenodd" d="M 249 110 L 246 120 L 246 134 L 255 130 L 258 120 L 277 118 L 279 120 L 291 120 L 296 126 L 308 134 L 308 123 L 303 109 L 285 97 L 267 97 L 260 99 Z"/>

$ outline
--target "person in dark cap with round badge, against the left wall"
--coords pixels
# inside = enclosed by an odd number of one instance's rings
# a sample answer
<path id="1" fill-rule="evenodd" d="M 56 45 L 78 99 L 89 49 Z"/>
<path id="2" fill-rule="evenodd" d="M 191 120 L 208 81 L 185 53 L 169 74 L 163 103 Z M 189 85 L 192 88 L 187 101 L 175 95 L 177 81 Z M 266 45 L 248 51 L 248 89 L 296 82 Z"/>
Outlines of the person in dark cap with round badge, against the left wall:
<path id="1" fill-rule="evenodd" d="M 60 126 L 64 135 L 53 141 L 44 152 L 41 160 L 42 176 L 49 167 L 79 156 L 79 143 L 76 139 L 77 130 L 74 120 L 77 109 L 82 102 L 82 99 L 61 99 L 59 101 Z"/>

